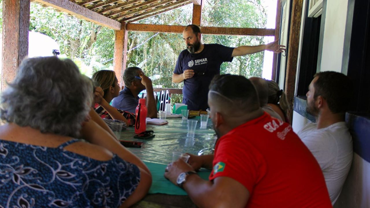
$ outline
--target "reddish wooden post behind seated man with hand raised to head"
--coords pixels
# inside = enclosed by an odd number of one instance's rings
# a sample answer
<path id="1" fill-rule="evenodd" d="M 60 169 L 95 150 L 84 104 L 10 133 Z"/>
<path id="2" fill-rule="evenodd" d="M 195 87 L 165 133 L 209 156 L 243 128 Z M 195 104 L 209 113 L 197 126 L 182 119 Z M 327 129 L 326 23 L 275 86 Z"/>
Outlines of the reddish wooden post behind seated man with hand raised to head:
<path id="1" fill-rule="evenodd" d="M 122 22 L 121 30 L 115 30 L 114 40 L 114 58 L 113 68 L 116 73 L 118 83 L 123 86 L 124 82 L 122 79 L 123 72 L 126 69 L 127 64 L 127 30 L 126 23 Z"/>

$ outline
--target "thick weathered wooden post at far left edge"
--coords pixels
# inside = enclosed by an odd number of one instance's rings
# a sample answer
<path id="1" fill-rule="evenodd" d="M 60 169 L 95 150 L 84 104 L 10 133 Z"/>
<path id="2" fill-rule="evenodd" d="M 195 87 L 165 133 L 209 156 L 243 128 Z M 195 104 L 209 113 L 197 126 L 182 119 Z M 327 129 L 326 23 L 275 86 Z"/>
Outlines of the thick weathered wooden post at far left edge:
<path id="1" fill-rule="evenodd" d="M 16 77 L 17 67 L 28 54 L 30 0 L 3 0 L 1 91 Z"/>

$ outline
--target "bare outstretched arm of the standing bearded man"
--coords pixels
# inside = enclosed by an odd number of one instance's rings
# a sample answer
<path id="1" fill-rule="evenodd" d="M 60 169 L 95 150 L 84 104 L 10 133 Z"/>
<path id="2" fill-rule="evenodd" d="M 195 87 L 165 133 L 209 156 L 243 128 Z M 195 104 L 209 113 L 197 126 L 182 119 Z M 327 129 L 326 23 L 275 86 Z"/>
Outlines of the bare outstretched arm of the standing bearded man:
<path id="1" fill-rule="evenodd" d="M 278 41 L 279 39 L 271 43 L 259 45 L 259 46 L 239 46 L 239 47 L 234 48 L 231 56 L 232 57 L 244 56 L 247 54 L 258 53 L 264 50 L 273 51 L 274 53 L 281 53 L 285 51 L 285 46 L 279 45 Z"/>

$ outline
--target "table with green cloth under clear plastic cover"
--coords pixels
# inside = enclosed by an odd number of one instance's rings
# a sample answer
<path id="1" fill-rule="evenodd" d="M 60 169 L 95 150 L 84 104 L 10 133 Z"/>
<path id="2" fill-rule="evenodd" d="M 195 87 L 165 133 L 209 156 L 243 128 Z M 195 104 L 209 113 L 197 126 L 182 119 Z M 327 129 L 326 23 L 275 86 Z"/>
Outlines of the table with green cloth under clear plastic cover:
<path id="1" fill-rule="evenodd" d="M 163 174 L 165 166 L 172 161 L 172 152 L 189 152 L 198 154 L 198 151 L 203 149 L 203 140 L 208 136 L 215 136 L 215 131 L 212 128 L 211 120 L 208 120 L 206 129 L 199 129 L 200 117 L 194 118 L 198 120 L 194 138 L 186 137 L 188 133 L 187 122 L 183 123 L 182 118 L 168 118 L 166 125 L 147 125 L 147 130 L 153 130 L 155 137 L 149 140 L 135 139 L 134 127 L 128 127 L 122 131 L 121 140 L 141 141 L 145 142 L 142 148 L 128 148 L 131 152 L 137 155 L 149 167 L 152 172 L 153 184 L 149 190 L 149 194 L 142 201 L 135 204 L 134 208 L 158 208 L 158 207 L 196 207 L 185 191 L 176 187 L 171 182 L 167 181 Z M 161 167 L 159 170 L 158 168 Z M 203 178 L 209 175 L 209 171 L 199 172 Z M 168 188 L 169 193 L 154 191 L 155 187 Z M 166 191 L 165 191 L 166 192 Z M 180 195 L 174 195 L 174 192 Z"/>

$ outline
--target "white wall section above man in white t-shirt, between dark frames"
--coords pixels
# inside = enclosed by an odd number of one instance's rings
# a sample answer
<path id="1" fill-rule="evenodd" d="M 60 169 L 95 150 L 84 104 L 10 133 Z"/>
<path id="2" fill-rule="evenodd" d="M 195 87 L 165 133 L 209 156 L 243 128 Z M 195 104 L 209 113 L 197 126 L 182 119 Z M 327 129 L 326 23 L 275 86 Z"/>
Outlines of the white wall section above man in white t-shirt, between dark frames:
<path id="1" fill-rule="evenodd" d="M 347 4 L 348 0 L 327 0 L 320 71 L 342 70 Z"/>

